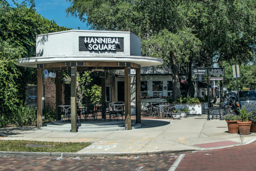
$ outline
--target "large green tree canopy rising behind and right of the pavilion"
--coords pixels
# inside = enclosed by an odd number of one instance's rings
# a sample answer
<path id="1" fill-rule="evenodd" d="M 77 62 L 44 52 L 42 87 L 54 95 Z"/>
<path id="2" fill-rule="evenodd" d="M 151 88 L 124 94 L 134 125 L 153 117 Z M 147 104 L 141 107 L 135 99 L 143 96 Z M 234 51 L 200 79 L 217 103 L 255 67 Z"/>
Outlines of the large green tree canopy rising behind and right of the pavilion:
<path id="1" fill-rule="evenodd" d="M 191 61 L 206 67 L 207 55 L 229 63 L 255 60 L 254 0 L 68 1 L 68 15 L 87 21 L 92 29 L 137 34 L 142 38 L 142 55 L 163 58 L 173 71 L 178 63 Z M 177 73 L 173 80 L 179 88 Z"/>

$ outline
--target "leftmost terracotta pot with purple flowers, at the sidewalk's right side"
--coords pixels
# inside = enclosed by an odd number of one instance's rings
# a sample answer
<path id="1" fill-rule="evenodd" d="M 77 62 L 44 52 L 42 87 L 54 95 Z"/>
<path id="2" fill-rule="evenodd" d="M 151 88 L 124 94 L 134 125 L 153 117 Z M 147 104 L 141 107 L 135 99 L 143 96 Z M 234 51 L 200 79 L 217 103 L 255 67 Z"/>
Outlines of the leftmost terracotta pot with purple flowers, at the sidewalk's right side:
<path id="1" fill-rule="evenodd" d="M 234 113 L 229 113 L 228 115 L 224 116 L 224 119 L 226 120 L 228 124 L 228 133 L 230 134 L 237 134 L 238 133 L 238 116 Z"/>

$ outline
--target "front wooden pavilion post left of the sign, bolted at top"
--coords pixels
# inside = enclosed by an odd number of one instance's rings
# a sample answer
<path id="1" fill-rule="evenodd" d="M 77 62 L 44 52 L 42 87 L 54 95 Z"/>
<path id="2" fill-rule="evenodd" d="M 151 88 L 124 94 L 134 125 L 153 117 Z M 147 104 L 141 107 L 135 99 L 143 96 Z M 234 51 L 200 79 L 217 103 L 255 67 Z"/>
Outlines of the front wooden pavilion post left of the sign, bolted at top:
<path id="1" fill-rule="evenodd" d="M 77 132 L 76 129 L 76 70 L 77 66 L 75 63 L 72 62 L 71 64 L 71 98 L 70 98 L 70 105 L 71 105 L 71 132 Z"/>

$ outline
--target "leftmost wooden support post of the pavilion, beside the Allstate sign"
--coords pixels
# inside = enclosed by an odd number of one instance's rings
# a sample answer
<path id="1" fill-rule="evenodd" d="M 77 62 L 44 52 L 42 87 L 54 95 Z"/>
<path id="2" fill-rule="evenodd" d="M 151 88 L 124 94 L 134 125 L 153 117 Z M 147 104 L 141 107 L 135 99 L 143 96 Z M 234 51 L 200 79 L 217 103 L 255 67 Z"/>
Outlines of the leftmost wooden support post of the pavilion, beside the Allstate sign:
<path id="1" fill-rule="evenodd" d="M 42 121 L 42 69 L 37 68 L 37 129 L 43 126 Z"/>

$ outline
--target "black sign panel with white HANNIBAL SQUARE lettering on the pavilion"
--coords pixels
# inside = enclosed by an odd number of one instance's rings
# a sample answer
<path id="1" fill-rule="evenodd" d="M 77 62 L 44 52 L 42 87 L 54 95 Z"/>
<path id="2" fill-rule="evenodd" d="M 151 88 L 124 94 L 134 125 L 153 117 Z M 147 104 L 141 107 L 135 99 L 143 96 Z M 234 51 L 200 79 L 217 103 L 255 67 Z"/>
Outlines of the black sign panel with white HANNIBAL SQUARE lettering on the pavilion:
<path id="1" fill-rule="evenodd" d="M 123 37 L 79 36 L 79 51 L 123 52 Z"/>

